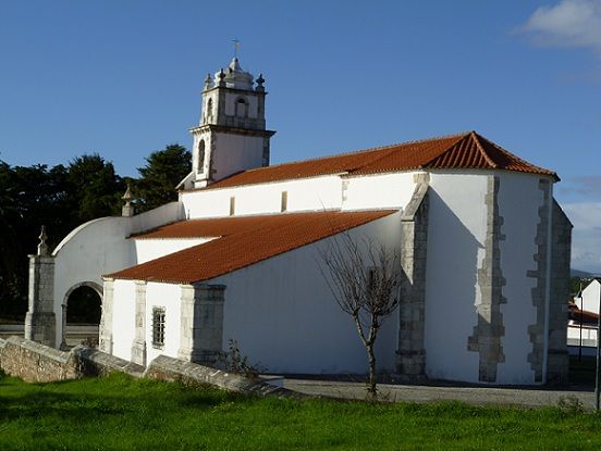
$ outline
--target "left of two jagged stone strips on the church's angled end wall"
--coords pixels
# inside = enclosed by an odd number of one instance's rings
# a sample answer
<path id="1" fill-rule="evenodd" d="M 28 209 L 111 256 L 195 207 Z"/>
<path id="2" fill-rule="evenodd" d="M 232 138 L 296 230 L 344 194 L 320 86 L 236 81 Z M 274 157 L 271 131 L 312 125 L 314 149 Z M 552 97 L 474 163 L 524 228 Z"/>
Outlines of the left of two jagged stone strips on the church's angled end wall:
<path id="1" fill-rule="evenodd" d="M 503 217 L 499 214 L 499 177 L 488 177 L 488 190 L 485 198 L 487 206 L 487 235 L 485 239 L 485 259 L 478 268 L 478 287 L 481 301 L 476 306 L 478 325 L 468 338 L 467 349 L 479 354 L 479 377 L 481 383 L 496 381 L 498 364 L 505 361 L 501 338 L 505 334 L 501 305 L 507 300 L 503 297 L 505 279 L 501 270 L 500 241 L 505 239 L 501 233 Z"/>

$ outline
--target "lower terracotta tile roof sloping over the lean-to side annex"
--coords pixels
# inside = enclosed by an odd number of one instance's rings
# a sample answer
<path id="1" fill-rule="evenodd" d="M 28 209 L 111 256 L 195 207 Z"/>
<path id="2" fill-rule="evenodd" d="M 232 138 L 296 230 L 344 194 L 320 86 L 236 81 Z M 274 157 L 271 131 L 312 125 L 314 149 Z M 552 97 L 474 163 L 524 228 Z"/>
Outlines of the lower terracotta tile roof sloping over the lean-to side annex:
<path id="1" fill-rule="evenodd" d="M 285 213 L 175 223 L 136 238 L 221 238 L 106 277 L 193 284 L 240 270 L 395 212 L 396 210 Z"/>

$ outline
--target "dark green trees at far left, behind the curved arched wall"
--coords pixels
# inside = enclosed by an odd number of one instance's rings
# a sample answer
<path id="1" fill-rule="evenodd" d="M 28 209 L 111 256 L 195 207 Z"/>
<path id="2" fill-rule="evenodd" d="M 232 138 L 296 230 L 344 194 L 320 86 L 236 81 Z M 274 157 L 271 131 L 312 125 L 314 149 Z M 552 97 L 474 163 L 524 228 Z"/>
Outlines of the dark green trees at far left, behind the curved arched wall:
<path id="1" fill-rule="evenodd" d="M 74 227 L 120 211 L 125 184 L 98 154 L 69 167 L 14 166 L 0 161 L 0 317 L 27 309 L 27 254 L 35 253 L 41 225 L 53 249 Z"/>

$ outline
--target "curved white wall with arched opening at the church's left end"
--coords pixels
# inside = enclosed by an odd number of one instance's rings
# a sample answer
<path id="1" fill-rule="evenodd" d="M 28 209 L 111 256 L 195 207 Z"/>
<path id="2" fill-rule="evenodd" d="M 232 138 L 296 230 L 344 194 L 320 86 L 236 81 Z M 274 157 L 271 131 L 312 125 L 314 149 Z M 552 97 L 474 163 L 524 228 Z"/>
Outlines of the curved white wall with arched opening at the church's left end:
<path id="1" fill-rule="evenodd" d="M 183 217 L 180 202 L 131 216 L 102 217 L 73 229 L 53 251 L 54 314 L 57 342 L 62 339 L 62 308 L 69 289 L 82 281 L 102 286 L 102 275 L 136 264 L 131 234 L 172 223 Z M 51 233 L 52 230 L 49 230 Z"/>

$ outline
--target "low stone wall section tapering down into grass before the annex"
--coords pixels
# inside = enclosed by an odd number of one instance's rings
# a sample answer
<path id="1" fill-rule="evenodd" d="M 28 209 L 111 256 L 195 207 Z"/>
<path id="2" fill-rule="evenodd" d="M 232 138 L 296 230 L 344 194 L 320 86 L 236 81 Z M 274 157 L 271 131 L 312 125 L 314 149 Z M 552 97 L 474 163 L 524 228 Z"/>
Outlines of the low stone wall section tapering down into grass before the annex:
<path id="1" fill-rule="evenodd" d="M 260 379 L 250 379 L 238 374 L 226 373 L 209 366 L 168 358 L 167 355 L 159 355 L 155 359 L 144 373 L 144 377 L 179 381 L 186 385 L 208 384 L 230 391 L 259 396 L 296 399 L 310 398 L 308 394 L 275 387 Z"/>

